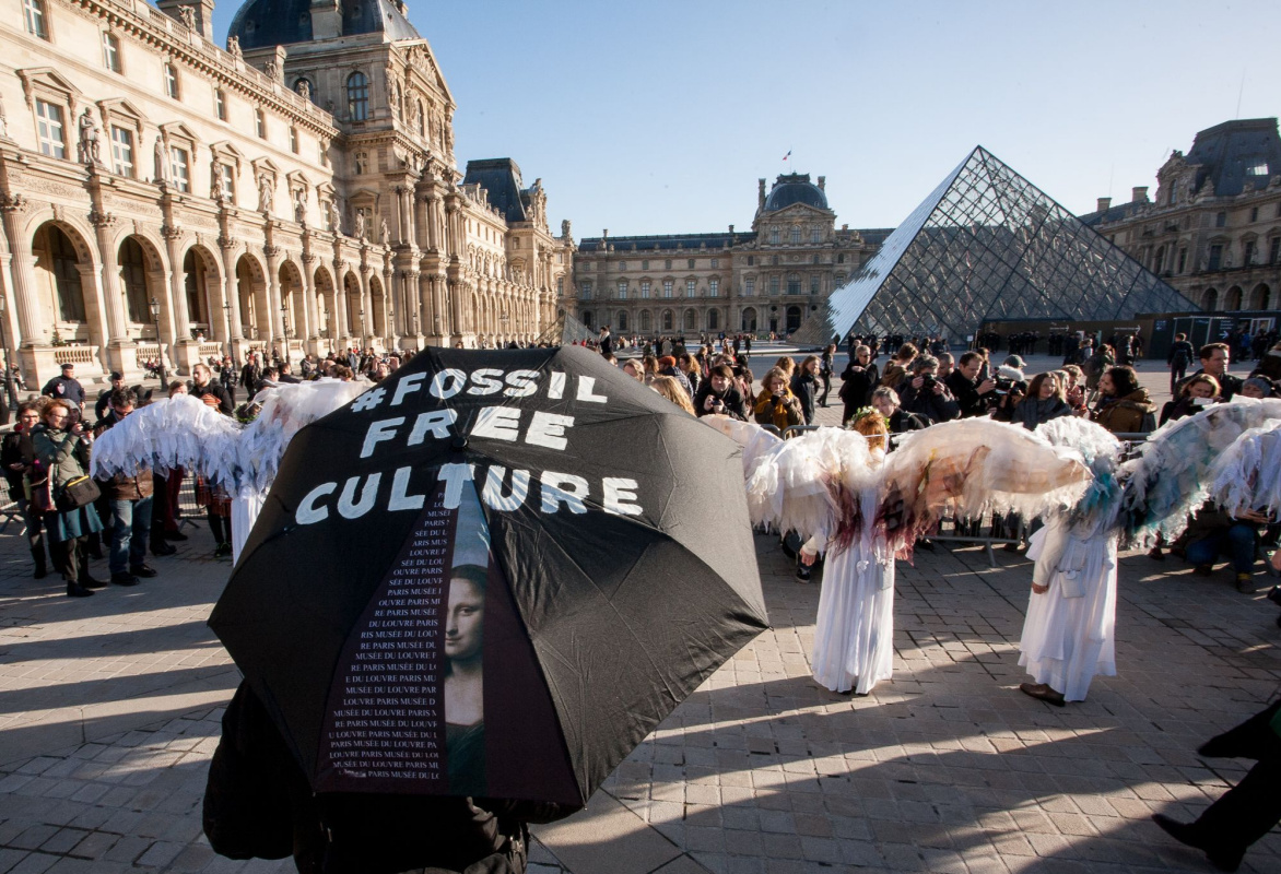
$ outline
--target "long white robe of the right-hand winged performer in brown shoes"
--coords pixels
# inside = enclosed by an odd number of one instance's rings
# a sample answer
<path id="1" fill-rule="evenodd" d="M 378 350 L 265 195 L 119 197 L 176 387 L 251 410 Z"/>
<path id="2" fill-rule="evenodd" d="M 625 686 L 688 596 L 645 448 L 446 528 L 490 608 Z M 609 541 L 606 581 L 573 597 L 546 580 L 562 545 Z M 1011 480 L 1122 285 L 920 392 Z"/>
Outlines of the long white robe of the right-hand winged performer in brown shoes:
<path id="1" fill-rule="evenodd" d="M 1117 530 L 1054 518 L 1031 536 L 1027 557 L 1049 591 L 1031 594 L 1018 664 L 1065 700 L 1084 701 L 1095 674 L 1117 673 Z"/>

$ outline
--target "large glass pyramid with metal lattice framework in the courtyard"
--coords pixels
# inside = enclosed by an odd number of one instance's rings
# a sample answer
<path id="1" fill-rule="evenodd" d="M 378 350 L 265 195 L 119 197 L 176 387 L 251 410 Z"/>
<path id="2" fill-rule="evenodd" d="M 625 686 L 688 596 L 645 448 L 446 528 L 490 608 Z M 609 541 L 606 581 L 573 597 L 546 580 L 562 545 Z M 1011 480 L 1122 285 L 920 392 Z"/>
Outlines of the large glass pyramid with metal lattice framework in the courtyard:
<path id="1" fill-rule="evenodd" d="M 942 335 L 991 320 L 1108 321 L 1199 307 L 976 147 L 796 339 Z"/>

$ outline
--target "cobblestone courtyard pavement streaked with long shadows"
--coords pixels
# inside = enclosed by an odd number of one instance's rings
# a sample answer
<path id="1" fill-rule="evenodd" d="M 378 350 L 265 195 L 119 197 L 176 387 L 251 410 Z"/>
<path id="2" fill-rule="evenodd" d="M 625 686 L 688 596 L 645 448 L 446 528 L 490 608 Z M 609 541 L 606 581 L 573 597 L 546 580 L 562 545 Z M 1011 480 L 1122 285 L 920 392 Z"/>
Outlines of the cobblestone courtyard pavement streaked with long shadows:
<path id="1" fill-rule="evenodd" d="M 220 859 L 201 836 L 238 681 L 204 624 L 229 569 L 204 528 L 152 560 L 158 578 L 90 599 L 31 580 L 17 534 L 0 534 L 0 871 L 292 870 Z M 1277 692 L 1262 591 L 1127 555 L 1121 676 L 1054 709 L 1016 688 L 1027 560 L 939 545 L 899 564 L 894 679 L 849 697 L 810 678 L 820 586 L 756 543 L 772 628 L 587 811 L 535 829 L 532 871 L 1211 870 L 1149 816 L 1190 819 L 1244 773 L 1195 747 Z M 1281 838 L 1243 870 L 1281 870 Z"/>

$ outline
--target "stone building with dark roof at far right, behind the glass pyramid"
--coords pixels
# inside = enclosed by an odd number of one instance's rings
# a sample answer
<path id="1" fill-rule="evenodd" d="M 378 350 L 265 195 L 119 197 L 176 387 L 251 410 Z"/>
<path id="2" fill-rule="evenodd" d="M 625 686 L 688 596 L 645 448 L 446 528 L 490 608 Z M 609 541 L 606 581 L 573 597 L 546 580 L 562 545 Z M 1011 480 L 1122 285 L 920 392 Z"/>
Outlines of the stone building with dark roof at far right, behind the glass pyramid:
<path id="1" fill-rule="evenodd" d="M 1157 170 L 1155 200 L 1081 216 L 1207 312 L 1271 311 L 1281 288 L 1281 137 L 1277 120 L 1243 119 L 1202 131 Z M 1273 321 L 1263 317 L 1261 321 Z M 1254 329 L 1276 324 L 1255 325 Z"/>

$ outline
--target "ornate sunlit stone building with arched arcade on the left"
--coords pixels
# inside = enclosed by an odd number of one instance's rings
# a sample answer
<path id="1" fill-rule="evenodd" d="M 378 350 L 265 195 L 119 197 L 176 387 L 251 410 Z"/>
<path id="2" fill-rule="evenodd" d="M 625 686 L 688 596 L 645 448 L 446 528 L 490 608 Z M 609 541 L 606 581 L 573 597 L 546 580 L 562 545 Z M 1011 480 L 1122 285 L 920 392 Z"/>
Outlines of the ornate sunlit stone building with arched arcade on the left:
<path id="1" fill-rule="evenodd" d="M 29 383 L 555 319 L 567 226 L 511 160 L 457 171 L 453 97 L 400 0 L 249 0 L 225 50 L 211 13 L 0 0 L 0 324 Z"/>

